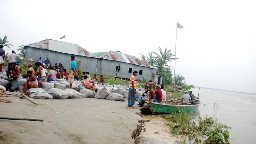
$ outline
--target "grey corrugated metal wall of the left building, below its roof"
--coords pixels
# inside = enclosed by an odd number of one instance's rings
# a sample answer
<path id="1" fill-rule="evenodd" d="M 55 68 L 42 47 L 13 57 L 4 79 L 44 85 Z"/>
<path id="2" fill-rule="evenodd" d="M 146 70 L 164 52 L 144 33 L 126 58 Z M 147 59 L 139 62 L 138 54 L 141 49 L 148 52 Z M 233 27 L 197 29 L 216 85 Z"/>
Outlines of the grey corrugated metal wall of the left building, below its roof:
<path id="1" fill-rule="evenodd" d="M 51 64 L 54 66 L 54 63 L 61 63 L 64 68 L 67 69 L 67 71 L 70 68 L 70 56 L 71 54 L 66 53 L 60 53 L 56 51 L 50 51 L 45 49 L 39 49 L 39 48 L 33 48 L 33 47 L 27 47 L 26 48 L 26 56 L 25 59 L 32 58 L 34 61 L 37 61 L 40 57 L 42 60 L 46 60 L 49 58 Z M 84 72 L 89 73 L 96 73 L 96 65 L 97 61 L 99 61 L 97 58 L 91 58 L 91 57 L 84 57 L 81 55 L 75 55 L 75 59 L 79 60 L 82 58 L 82 64 L 80 67 Z"/>

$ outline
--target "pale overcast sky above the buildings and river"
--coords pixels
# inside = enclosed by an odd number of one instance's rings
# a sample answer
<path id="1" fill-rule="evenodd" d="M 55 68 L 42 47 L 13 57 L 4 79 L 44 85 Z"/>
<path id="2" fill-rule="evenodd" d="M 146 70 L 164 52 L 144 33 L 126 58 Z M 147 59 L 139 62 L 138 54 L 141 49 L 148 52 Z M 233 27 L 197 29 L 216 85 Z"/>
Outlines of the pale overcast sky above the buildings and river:
<path id="1" fill-rule="evenodd" d="M 93 52 L 175 53 L 187 84 L 256 93 L 256 8 L 253 1 L 0 0 L 0 37 L 6 53 L 60 39 Z M 61 63 L 61 61 L 59 61 Z M 174 61 L 170 66 L 174 67 Z"/>

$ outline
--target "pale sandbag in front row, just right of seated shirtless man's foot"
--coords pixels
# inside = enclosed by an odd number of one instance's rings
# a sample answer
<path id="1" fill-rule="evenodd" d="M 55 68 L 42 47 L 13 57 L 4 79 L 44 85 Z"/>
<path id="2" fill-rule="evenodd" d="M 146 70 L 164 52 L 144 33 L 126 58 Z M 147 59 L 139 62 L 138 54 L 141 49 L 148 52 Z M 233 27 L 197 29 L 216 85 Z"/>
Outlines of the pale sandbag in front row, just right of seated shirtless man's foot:
<path id="1" fill-rule="evenodd" d="M 28 97 L 31 97 L 31 98 L 52 99 L 52 96 L 49 93 L 47 93 L 45 90 L 43 90 L 39 87 L 27 89 L 26 93 L 27 93 Z"/>

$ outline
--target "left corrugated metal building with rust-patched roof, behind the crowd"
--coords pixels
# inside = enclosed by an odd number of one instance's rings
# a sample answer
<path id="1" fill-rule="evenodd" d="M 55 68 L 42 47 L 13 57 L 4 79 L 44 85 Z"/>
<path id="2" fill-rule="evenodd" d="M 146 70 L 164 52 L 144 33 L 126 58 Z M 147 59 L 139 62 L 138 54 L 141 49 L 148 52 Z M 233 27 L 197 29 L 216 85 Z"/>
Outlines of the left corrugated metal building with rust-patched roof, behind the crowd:
<path id="1" fill-rule="evenodd" d="M 54 63 L 57 63 L 57 65 L 61 63 L 67 71 L 70 68 L 71 55 L 75 55 L 76 60 L 82 58 L 80 67 L 83 71 L 88 71 L 89 73 L 96 72 L 96 65 L 100 61 L 98 57 L 76 44 L 52 39 L 29 44 L 24 46 L 24 48 L 26 49 L 25 59 L 32 58 L 34 61 L 37 61 L 41 57 L 44 61 L 49 58 L 52 65 Z"/>

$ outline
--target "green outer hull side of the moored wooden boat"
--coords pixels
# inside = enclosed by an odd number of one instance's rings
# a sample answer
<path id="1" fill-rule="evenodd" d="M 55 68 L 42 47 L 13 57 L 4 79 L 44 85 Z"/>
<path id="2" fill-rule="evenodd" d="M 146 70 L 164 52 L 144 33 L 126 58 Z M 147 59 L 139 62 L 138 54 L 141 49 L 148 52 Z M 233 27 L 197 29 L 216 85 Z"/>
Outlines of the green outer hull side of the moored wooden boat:
<path id="1" fill-rule="evenodd" d="M 147 105 L 152 113 L 154 114 L 169 114 L 169 113 L 181 113 L 181 112 L 193 112 L 196 111 L 200 105 L 180 105 L 180 104 L 164 104 L 164 103 L 155 103 L 150 104 L 147 102 Z"/>

